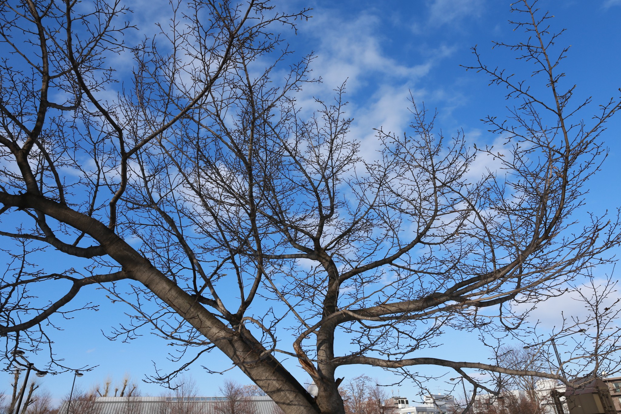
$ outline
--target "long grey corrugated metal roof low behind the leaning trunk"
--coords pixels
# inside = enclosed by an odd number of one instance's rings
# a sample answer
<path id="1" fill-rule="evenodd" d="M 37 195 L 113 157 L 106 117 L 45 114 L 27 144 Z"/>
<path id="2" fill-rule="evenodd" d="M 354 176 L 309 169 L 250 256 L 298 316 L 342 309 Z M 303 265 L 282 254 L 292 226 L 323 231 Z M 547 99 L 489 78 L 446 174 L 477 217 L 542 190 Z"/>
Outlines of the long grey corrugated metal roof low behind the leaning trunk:
<path id="1" fill-rule="evenodd" d="M 73 400 L 69 414 L 218 414 L 214 410 L 219 403 L 217 399 L 222 397 L 193 397 L 191 401 L 179 401 L 175 397 L 97 397 L 86 405 Z M 256 414 L 279 412 L 270 397 L 248 397 L 248 400 Z M 58 414 L 67 414 L 67 408 L 68 403 L 64 402 Z"/>

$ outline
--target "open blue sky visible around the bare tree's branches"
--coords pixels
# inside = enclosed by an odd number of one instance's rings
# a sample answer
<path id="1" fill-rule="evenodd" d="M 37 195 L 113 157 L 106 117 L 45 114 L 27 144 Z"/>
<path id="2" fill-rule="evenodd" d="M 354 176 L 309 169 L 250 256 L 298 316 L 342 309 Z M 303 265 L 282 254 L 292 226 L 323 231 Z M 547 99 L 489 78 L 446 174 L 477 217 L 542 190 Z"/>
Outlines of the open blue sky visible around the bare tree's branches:
<path id="1" fill-rule="evenodd" d="M 164 3 L 164 2 L 162 2 Z M 165 16 L 153 1 L 132 3 L 134 19 L 139 27 L 151 28 L 155 19 Z M 428 1 L 287 1 L 277 7 L 313 7 L 312 19 L 302 22 L 297 35 L 287 32 L 291 46 L 304 55 L 317 55 L 312 68 L 323 83 L 309 85 L 299 95 L 299 102 L 311 105 L 312 97 L 328 99 L 332 89 L 347 79 L 349 113 L 354 118 L 351 134 L 373 151 L 373 128 L 402 132 L 409 123 L 408 98 L 410 92 L 428 107 L 437 107 L 437 125 L 447 134 L 464 130 L 471 143 L 492 143 L 495 137 L 486 132 L 481 118 L 488 114 L 502 115 L 505 105 L 502 89 L 487 86 L 481 74 L 466 73 L 459 65 L 473 63 L 470 47 L 479 50 L 490 65 L 515 67 L 515 61 L 502 51 L 491 50 L 491 40 L 510 40 L 523 36 L 507 24 L 510 19 L 509 1 L 497 0 L 428 0 Z M 553 29 L 567 30 L 560 42 L 572 45 L 564 61 L 567 82 L 578 84 L 576 95 L 593 96 L 595 102 L 618 96 L 621 87 L 621 1 L 542 1 L 542 9 L 550 9 L 556 17 Z M 138 21 L 139 20 L 139 21 Z M 147 30 L 147 29 L 145 29 Z M 134 34 L 138 38 L 140 34 Z M 511 69 L 513 70 L 513 69 Z M 515 70 L 521 70 L 519 67 Z M 621 205 L 618 191 L 619 164 L 621 164 L 621 118 L 610 122 L 602 139 L 610 148 L 609 159 L 589 185 L 589 210 L 602 212 Z M 484 167 L 484 166 L 481 166 Z M 63 263 L 50 263 L 61 270 Z M 75 266 L 73 264 L 72 266 Z M 602 269 L 602 272 L 605 270 Z M 53 333 L 55 353 L 70 366 L 98 366 L 78 379 L 88 388 L 104 377 L 120 380 L 127 372 L 135 380 L 153 374 L 152 361 L 166 369 L 173 367 L 165 360 L 171 351 L 166 341 L 148 331 L 129 343 L 107 341 L 102 335 L 124 321 L 128 311 L 122 304 L 111 304 L 106 292 L 91 289 L 82 292 L 78 302 L 100 305 L 98 312 L 76 313 L 63 321 L 63 331 Z M 557 323 L 553 313 L 569 308 L 571 298 L 545 305 L 542 320 L 550 328 Z M 458 344 L 458 346 L 456 346 Z M 447 335 L 445 346 L 434 351 L 444 358 L 484 361 L 486 349 L 476 338 Z M 45 361 L 45 356 L 33 356 L 32 361 Z M 201 364 L 214 370 L 229 368 L 227 359 L 217 351 L 202 358 L 188 374 L 197 381 L 203 395 L 215 395 L 224 378 L 248 383 L 237 369 L 224 376 L 207 375 Z M 292 361 L 286 362 L 291 367 Z M 295 369 L 299 379 L 306 380 L 301 369 Z M 441 373 L 431 369 L 430 373 Z M 347 367 L 340 376 L 352 377 L 365 373 L 378 377 L 381 382 L 399 380 L 379 369 Z M 447 377 L 448 378 L 448 377 Z M 59 398 L 71 386 L 71 374 L 48 376 L 42 384 Z M 6 384 L 9 377 L 6 376 Z M 430 384 L 432 390 L 441 390 L 442 382 Z M 140 384 L 143 392 L 158 394 L 160 387 Z M 392 387 L 399 393 L 414 398 L 417 390 L 404 382 Z"/>

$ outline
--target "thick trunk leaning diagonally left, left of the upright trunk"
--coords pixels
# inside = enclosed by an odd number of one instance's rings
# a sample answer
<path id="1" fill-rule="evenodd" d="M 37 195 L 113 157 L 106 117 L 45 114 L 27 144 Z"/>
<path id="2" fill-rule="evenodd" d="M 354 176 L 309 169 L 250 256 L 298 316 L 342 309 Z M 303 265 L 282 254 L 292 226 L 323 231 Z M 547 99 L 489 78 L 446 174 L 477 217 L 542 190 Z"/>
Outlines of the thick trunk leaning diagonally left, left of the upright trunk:
<path id="1" fill-rule="evenodd" d="M 244 337 L 220 322 L 196 299 L 143 258 L 116 233 L 92 217 L 33 194 L 8 196 L 4 204 L 37 209 L 60 222 L 83 231 L 97 240 L 131 279 L 142 283 L 212 341 L 242 371 L 261 387 L 287 414 L 317 414 L 319 408 L 311 395 L 271 354 L 260 356 L 265 348 L 254 338 Z M 249 343 L 250 342 L 250 343 Z M 250 362 L 247 362 L 250 361 Z M 338 398 L 340 400 L 340 398 Z M 325 411 L 323 411 L 325 412 Z M 335 411 L 338 413 L 340 411 Z"/>

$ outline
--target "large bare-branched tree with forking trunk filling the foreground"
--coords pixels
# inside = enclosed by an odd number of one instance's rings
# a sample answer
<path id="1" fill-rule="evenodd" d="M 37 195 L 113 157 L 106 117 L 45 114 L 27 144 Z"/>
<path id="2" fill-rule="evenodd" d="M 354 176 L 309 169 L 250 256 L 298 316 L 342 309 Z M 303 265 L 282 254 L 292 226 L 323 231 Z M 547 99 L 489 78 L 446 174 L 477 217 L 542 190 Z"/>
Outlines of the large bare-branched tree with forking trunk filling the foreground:
<path id="1" fill-rule="evenodd" d="M 507 120 L 485 119 L 505 145 L 472 150 L 412 102 L 409 132 L 379 128 L 381 150 L 365 160 L 344 86 L 314 115 L 297 107 L 312 58 L 291 63 L 271 27 L 306 11 L 173 2 L 158 42 L 127 48 L 119 2 L 2 2 L 0 41 L 13 53 L 0 66 L 0 334 L 39 349 L 43 322 L 69 312 L 80 290 L 103 286 L 133 309 L 113 337 L 151 325 L 197 348 L 153 380 L 166 383 L 217 348 L 286 413 L 343 413 L 335 372 L 351 364 L 413 380 L 423 374 L 409 367 L 442 366 L 489 392 L 465 370 L 567 382 L 424 354 L 446 329 L 519 331 L 526 313 L 512 304 L 561 294 L 609 263 L 606 251 L 621 241 L 617 217 L 585 207 L 620 102 L 584 120 L 591 101 L 574 103 L 575 87 L 564 85 L 567 48 L 550 16 L 527 1 L 512 7 L 527 38 L 496 45 L 535 65 L 532 84 L 487 66 L 476 49 L 468 67 L 517 99 Z M 127 52 L 134 70 L 115 89 L 107 58 Z M 290 68 L 283 81 L 281 65 Z M 473 162 L 486 156 L 498 168 L 479 177 Z M 46 246 L 91 259 L 89 273 L 70 260 L 47 272 L 34 260 Z M 67 293 L 48 301 L 33 285 Z M 336 351 L 337 335 L 350 347 Z M 282 354 L 311 376 L 316 398 Z"/>

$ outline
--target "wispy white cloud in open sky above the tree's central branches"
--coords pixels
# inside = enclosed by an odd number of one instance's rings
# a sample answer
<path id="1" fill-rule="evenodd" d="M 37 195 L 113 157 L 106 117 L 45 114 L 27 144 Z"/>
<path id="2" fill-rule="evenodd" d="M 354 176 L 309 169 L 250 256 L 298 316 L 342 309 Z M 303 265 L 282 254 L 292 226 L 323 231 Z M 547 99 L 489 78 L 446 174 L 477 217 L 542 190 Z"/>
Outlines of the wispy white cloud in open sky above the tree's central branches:
<path id="1" fill-rule="evenodd" d="M 316 40 L 312 68 L 323 83 L 307 86 L 298 101 L 306 107 L 313 106 L 313 97 L 329 101 L 332 90 L 347 79 L 348 100 L 355 102 L 348 108 L 354 119 L 350 136 L 363 143 L 361 155 L 367 159 L 379 145 L 374 128 L 404 132 L 411 118 L 410 91 L 426 94 L 422 78 L 453 53 L 451 48 L 438 47 L 419 61 L 399 60 L 386 52 L 393 39 L 383 34 L 383 25 L 377 16 L 365 12 L 353 18 L 325 13 L 301 29 Z"/>

